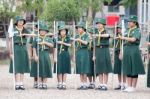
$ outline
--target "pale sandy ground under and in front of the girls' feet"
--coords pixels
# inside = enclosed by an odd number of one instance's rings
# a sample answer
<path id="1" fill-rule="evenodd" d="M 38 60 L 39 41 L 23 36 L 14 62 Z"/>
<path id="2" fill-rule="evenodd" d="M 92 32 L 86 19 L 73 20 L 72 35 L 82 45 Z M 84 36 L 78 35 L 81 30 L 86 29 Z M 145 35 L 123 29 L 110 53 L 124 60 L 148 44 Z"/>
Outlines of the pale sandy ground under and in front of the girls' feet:
<path id="1" fill-rule="evenodd" d="M 33 80 L 28 74 L 25 75 L 25 91 L 13 90 L 13 76 L 8 73 L 8 66 L 0 66 L 0 99 L 150 99 L 150 89 L 146 88 L 146 76 L 140 76 L 137 92 L 123 93 L 112 90 L 117 84 L 116 76 L 112 81 L 109 76 L 109 90 L 106 92 L 87 90 L 78 91 L 75 88 L 79 85 L 78 75 L 69 75 L 67 79 L 68 89 L 60 91 L 56 89 L 56 76 L 48 80 L 48 90 L 36 90 L 32 88 Z M 98 81 L 97 81 L 98 83 Z"/>

